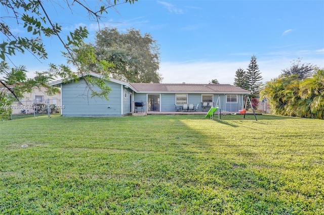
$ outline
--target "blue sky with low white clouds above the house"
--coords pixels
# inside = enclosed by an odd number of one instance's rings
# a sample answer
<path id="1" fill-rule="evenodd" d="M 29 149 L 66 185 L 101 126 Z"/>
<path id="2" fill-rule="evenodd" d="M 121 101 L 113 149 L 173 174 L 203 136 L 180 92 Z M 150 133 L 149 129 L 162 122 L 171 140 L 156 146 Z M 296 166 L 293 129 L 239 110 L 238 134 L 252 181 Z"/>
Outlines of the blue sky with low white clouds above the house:
<path id="1" fill-rule="evenodd" d="M 62 6 L 62 2 L 59 3 Z M 87 1 L 94 7 L 95 1 Z M 88 42 L 94 41 L 98 25 L 86 12 L 45 3 L 52 21 L 68 34 L 87 26 Z M 232 84 L 235 71 L 248 68 L 257 57 L 263 82 L 277 77 L 291 61 L 324 67 L 324 1 L 143 1 L 110 10 L 102 27 L 148 32 L 160 47 L 163 83 L 208 83 L 217 79 Z M 3 9 L 1 11 L 3 14 Z M 12 28 L 23 35 L 22 26 Z M 53 37 L 44 39 L 48 60 L 38 62 L 28 54 L 17 56 L 29 71 L 43 71 L 49 63 L 64 64 L 63 45 Z M 16 60 L 17 60 L 16 58 Z"/>

